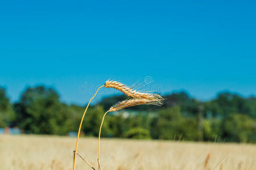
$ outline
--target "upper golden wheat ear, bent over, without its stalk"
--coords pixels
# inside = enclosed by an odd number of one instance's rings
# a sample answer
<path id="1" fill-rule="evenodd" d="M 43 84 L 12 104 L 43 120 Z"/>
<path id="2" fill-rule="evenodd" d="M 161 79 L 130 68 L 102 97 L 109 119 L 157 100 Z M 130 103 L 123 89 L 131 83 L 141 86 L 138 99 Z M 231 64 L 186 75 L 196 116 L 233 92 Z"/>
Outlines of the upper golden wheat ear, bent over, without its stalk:
<path id="1" fill-rule="evenodd" d="M 115 88 L 116 90 L 121 91 L 123 94 L 133 97 L 133 98 L 142 98 L 142 99 L 160 99 L 162 100 L 163 97 L 157 94 L 147 94 L 143 92 L 139 92 L 134 90 L 132 87 L 127 87 L 124 84 L 114 81 L 114 80 L 107 80 L 104 84 L 106 88 Z"/>

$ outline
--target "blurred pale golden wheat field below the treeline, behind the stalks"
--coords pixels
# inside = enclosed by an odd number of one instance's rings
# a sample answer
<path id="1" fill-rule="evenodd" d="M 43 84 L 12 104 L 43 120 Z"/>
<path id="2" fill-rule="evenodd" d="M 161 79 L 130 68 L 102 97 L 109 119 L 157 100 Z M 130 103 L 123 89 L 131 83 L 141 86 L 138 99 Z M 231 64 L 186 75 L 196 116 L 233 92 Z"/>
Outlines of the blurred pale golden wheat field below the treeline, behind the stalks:
<path id="1" fill-rule="evenodd" d="M 0 135 L 0 169 L 72 169 L 75 138 Z M 102 169 L 256 169 L 256 145 L 102 139 Z M 97 139 L 79 153 L 97 167 Z M 90 169 L 77 158 L 77 169 Z"/>

